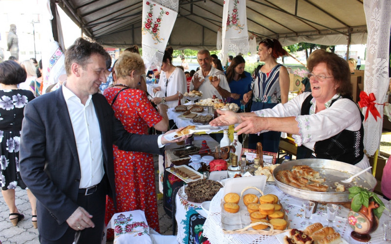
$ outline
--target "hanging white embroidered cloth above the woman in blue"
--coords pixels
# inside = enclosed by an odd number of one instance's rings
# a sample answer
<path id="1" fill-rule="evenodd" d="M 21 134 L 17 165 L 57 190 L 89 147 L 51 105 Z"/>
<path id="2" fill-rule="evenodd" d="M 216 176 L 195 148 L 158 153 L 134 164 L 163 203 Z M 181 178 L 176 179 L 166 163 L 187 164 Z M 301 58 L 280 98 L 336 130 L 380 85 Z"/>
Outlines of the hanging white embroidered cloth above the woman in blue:
<path id="1" fill-rule="evenodd" d="M 225 0 L 222 22 L 222 63 L 229 54 L 248 53 L 246 0 Z"/>

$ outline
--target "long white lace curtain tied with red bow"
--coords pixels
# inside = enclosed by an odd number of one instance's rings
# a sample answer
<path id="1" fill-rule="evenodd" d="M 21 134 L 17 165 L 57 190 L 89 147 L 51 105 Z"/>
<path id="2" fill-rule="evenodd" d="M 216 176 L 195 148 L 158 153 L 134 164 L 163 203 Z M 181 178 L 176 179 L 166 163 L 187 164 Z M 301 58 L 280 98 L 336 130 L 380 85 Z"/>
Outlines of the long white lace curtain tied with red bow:
<path id="1" fill-rule="evenodd" d="M 373 93 L 376 103 L 383 103 L 389 85 L 388 61 L 390 45 L 391 0 L 364 0 L 368 39 L 365 59 L 364 91 Z M 369 155 L 379 148 L 383 127 L 383 105 L 375 105 L 380 113 L 377 121 L 369 113 L 364 122 L 364 147 Z M 363 108 L 365 115 L 368 107 Z"/>

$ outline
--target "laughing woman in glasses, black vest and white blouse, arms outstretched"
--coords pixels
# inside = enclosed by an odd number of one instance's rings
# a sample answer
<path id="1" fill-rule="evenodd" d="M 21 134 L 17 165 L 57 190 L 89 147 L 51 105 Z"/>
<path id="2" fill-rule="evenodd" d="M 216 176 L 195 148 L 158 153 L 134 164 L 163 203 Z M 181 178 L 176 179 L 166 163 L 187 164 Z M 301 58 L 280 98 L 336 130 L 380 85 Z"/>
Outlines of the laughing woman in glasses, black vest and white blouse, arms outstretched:
<path id="1" fill-rule="evenodd" d="M 217 111 L 211 125 L 240 123 L 241 133 L 282 131 L 293 134 L 297 159 L 320 158 L 369 166 L 364 154 L 363 116 L 352 101 L 348 63 L 333 53 L 317 52 L 307 63 L 311 92 L 287 103 L 252 113 Z"/>

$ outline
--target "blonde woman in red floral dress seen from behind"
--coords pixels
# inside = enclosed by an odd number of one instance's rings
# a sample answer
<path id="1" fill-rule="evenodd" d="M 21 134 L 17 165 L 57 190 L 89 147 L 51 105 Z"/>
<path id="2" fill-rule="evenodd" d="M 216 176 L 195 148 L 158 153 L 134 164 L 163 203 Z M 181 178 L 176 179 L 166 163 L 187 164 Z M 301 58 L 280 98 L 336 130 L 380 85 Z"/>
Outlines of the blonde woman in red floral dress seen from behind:
<path id="1" fill-rule="evenodd" d="M 104 95 L 124 128 L 136 134 L 148 134 L 148 128 L 152 126 L 156 130 L 167 131 L 168 117 L 163 107 L 158 107 L 164 110 L 159 114 L 146 93 L 135 89 L 145 73 L 140 55 L 124 52 L 115 63 L 114 70 L 117 82 L 107 88 Z M 105 223 L 109 223 L 114 213 L 141 209 L 145 211 L 148 225 L 159 232 L 152 154 L 122 151 L 116 145 L 113 145 L 113 154 L 117 207 L 114 208 L 113 200 L 108 197 Z M 108 232 L 108 239 L 110 236 L 112 232 Z"/>

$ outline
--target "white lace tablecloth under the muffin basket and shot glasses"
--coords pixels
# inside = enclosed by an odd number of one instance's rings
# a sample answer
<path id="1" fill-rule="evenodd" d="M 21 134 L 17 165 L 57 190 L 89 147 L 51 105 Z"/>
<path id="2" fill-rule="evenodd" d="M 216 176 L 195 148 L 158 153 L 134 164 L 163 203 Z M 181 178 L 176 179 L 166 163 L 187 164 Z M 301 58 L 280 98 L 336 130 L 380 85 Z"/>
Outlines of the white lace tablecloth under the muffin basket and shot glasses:
<path id="1" fill-rule="evenodd" d="M 304 209 L 302 207 L 305 200 L 294 198 L 288 194 L 283 193 L 276 185 L 267 184 L 264 189 L 264 194 L 277 195 L 282 203 L 285 213 L 288 215 L 289 228 L 304 229 L 301 223 L 304 221 Z M 280 242 L 275 236 L 252 235 L 252 234 L 224 234 L 221 228 L 221 199 L 224 197 L 223 188 L 216 194 L 210 204 L 210 215 L 205 221 L 203 235 L 208 238 L 212 244 L 279 244 Z M 386 200 L 381 198 L 384 203 Z M 350 237 L 352 229 L 348 225 L 349 209 L 339 205 L 336 222 L 333 223 L 333 228 L 340 233 L 348 243 L 361 244 Z M 326 205 L 319 203 L 317 211 L 312 215 L 311 223 L 322 223 L 327 226 L 326 221 Z M 383 223 L 389 220 L 387 213 L 382 215 L 379 227 L 370 234 L 370 244 L 382 244 L 383 241 Z"/>

